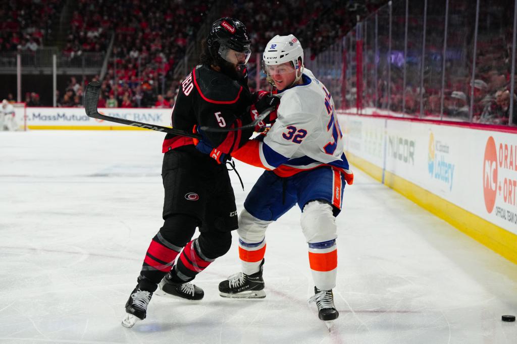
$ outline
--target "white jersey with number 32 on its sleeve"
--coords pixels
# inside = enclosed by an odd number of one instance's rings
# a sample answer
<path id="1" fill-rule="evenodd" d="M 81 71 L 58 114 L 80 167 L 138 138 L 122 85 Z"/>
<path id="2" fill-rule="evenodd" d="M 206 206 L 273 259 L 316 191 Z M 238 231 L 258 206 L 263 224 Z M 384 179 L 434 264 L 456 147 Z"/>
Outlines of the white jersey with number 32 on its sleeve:
<path id="1" fill-rule="evenodd" d="M 302 79 L 302 85 L 279 92 L 278 118 L 259 149 L 263 165 L 280 167 L 282 176 L 321 165 L 350 173 L 330 92 L 308 69 Z"/>

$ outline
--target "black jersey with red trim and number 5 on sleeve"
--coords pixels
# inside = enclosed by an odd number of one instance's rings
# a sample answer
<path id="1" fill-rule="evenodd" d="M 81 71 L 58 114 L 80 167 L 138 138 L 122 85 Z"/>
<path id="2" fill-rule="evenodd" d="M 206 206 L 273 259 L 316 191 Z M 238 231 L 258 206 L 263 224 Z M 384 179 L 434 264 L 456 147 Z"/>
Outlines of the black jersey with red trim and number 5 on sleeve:
<path id="1" fill-rule="evenodd" d="M 241 83 L 205 65 L 199 65 L 179 85 L 178 97 L 172 111 L 172 127 L 191 132 L 194 125 L 212 128 L 238 128 L 251 123 L 252 95 L 246 77 Z M 244 145 L 253 128 L 208 132 L 204 135 L 212 147 L 231 153 Z M 192 138 L 167 134 L 163 152 L 193 145 Z"/>

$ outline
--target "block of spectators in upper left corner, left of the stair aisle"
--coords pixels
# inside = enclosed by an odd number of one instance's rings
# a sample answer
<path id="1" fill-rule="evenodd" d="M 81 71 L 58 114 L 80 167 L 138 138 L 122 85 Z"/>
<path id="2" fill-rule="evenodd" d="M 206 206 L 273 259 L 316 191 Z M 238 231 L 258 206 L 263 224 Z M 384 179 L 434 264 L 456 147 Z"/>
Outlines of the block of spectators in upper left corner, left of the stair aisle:
<path id="1" fill-rule="evenodd" d="M 0 53 L 35 52 L 59 20 L 64 0 L 10 0 L 0 6 Z"/>

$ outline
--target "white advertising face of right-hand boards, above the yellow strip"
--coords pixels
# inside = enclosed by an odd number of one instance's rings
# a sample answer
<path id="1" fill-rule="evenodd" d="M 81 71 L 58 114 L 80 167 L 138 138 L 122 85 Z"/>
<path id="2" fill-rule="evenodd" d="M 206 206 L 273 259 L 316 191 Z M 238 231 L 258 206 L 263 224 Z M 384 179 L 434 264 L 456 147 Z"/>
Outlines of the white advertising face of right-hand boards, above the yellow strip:
<path id="1" fill-rule="evenodd" d="M 517 135 L 368 116 L 339 121 L 345 151 L 517 234 Z"/>

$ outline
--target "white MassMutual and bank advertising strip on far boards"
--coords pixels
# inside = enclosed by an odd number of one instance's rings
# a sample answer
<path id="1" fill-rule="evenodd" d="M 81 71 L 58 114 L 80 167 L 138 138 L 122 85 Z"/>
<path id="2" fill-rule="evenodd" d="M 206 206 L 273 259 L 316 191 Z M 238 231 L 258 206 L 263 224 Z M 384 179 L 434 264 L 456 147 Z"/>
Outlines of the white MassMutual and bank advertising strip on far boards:
<path id="1" fill-rule="evenodd" d="M 159 126 L 171 125 L 172 108 L 99 108 L 103 115 L 124 118 Z M 124 124 L 86 116 L 83 107 L 27 107 L 27 126 L 104 126 L 123 127 Z"/>

